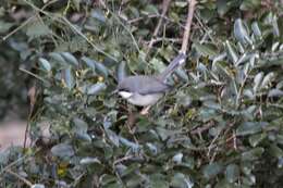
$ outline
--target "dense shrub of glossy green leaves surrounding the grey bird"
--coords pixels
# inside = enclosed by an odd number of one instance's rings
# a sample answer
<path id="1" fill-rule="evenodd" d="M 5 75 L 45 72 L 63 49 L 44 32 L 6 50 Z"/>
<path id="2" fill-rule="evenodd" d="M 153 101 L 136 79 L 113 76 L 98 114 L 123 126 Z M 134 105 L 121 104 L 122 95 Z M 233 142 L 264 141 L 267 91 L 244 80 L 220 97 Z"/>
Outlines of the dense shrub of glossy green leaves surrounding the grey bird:
<path id="1" fill-rule="evenodd" d="M 143 116 L 112 91 L 176 55 L 187 1 L 170 3 L 152 49 L 160 1 L 2 3 L 0 33 L 16 33 L 1 49 L 28 62 L 38 95 L 36 143 L 1 153 L 1 187 L 24 185 L 8 168 L 46 187 L 282 187 L 282 5 L 199 1 L 175 89 Z"/>

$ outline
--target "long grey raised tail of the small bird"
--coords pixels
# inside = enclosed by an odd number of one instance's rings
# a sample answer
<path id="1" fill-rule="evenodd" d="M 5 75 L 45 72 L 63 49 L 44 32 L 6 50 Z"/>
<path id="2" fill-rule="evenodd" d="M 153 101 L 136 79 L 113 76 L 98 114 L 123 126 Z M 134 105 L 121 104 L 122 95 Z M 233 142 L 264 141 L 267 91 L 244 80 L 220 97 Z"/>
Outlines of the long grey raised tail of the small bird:
<path id="1" fill-rule="evenodd" d="M 186 60 L 186 54 L 185 53 L 180 53 L 174 60 L 168 65 L 168 67 L 160 74 L 158 75 L 158 78 L 160 80 L 165 80 L 167 77 L 175 71 L 180 65 L 185 63 Z"/>

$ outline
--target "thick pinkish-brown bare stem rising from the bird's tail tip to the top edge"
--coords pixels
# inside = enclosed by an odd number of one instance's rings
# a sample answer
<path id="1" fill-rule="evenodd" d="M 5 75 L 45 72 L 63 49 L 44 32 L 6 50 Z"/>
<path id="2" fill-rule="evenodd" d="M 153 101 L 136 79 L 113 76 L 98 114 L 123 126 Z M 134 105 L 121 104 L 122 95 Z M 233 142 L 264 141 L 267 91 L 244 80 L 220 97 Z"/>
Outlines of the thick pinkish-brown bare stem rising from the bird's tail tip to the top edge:
<path id="1" fill-rule="evenodd" d="M 187 45 L 188 45 L 188 39 L 189 39 L 189 34 L 190 34 L 190 26 L 193 22 L 193 16 L 194 16 L 194 11 L 195 11 L 195 5 L 196 5 L 196 0 L 188 0 L 189 7 L 188 7 L 188 13 L 187 13 L 187 21 L 186 21 L 186 28 L 184 32 L 183 36 L 183 42 L 182 42 L 182 48 L 181 51 L 182 53 L 186 53 L 187 51 Z"/>

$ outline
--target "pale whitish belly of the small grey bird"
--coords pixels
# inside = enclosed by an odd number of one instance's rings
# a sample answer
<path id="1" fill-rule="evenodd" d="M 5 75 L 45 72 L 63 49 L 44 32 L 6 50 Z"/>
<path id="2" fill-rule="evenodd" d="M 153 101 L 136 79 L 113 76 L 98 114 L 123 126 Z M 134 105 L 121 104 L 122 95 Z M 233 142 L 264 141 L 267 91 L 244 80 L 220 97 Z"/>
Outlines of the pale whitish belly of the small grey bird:
<path id="1" fill-rule="evenodd" d="M 151 93 L 151 95 L 139 95 L 139 93 L 134 93 L 131 98 L 127 99 L 128 102 L 135 105 L 152 105 L 155 104 L 163 93 Z"/>

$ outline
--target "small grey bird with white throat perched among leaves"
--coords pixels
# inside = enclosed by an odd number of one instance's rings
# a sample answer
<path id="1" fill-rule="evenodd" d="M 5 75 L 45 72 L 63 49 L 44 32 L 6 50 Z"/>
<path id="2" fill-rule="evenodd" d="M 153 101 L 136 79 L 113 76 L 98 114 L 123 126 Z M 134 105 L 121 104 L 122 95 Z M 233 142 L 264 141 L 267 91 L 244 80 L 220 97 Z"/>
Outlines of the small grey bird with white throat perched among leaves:
<path id="1" fill-rule="evenodd" d="M 185 63 L 185 59 L 186 55 L 180 53 L 159 75 L 125 77 L 119 83 L 116 90 L 122 98 L 126 99 L 132 104 L 150 106 L 172 88 L 170 85 L 165 84 L 165 79 L 176 67 Z"/>

